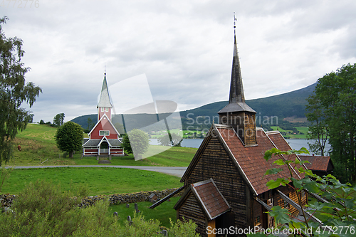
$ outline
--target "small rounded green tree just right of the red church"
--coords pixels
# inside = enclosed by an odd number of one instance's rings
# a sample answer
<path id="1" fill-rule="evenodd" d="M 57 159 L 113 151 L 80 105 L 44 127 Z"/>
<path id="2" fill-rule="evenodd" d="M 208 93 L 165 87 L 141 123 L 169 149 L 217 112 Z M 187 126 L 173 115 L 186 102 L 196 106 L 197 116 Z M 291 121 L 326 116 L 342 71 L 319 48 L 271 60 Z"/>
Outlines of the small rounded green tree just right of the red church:
<path id="1" fill-rule="evenodd" d="M 150 139 L 147 133 L 143 132 L 142 130 L 135 129 L 127 132 L 127 137 L 130 141 L 130 147 L 132 153 L 134 154 L 135 160 L 141 159 L 142 154 L 145 154 L 148 147 L 150 146 Z"/>

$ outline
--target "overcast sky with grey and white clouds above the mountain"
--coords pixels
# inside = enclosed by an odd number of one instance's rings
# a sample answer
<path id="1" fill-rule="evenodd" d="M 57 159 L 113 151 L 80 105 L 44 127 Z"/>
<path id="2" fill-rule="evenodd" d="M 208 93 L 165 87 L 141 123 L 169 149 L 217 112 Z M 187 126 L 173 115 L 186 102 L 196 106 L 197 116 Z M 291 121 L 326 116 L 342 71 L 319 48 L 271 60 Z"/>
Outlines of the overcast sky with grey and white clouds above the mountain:
<path id="1" fill-rule="evenodd" d="M 234 11 L 246 100 L 356 63 L 353 0 L 4 2 L 4 33 L 23 39 L 26 80 L 43 89 L 34 122 L 96 113 L 105 65 L 109 86 L 144 74 L 153 100 L 179 110 L 228 100 Z"/>

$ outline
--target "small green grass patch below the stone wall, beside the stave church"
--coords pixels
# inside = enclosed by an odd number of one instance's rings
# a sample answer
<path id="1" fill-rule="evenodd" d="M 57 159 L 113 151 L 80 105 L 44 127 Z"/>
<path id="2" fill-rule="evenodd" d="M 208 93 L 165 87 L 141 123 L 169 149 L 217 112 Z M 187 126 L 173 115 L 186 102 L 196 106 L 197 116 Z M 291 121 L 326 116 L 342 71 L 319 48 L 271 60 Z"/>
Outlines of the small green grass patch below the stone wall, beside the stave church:
<path id="1" fill-rule="evenodd" d="M 179 198 L 178 196 L 169 199 L 170 201 L 164 201 L 164 203 L 155 207 L 155 209 L 148 209 L 148 207 L 152 205 L 149 201 L 139 202 L 137 206 L 143 216 L 145 216 L 145 220 L 157 219 L 161 221 L 161 226 L 169 228 L 169 218 L 171 218 L 173 222 L 177 220 L 177 211 L 174 210 L 173 207 Z M 135 215 L 135 204 L 130 204 L 129 208 L 126 207 L 126 204 L 112 205 L 109 206 L 109 210 L 110 215 L 117 211 L 118 216 L 120 216 L 119 222 L 123 224 L 125 220 L 127 220 L 127 216 L 133 217 Z"/>

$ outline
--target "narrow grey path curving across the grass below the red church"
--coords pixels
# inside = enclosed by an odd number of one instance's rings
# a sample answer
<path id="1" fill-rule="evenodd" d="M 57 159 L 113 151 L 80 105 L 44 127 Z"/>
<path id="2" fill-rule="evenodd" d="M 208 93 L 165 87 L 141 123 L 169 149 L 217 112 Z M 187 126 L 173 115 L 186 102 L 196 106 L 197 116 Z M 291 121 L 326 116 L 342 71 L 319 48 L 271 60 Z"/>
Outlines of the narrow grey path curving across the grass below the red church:
<path id="1" fill-rule="evenodd" d="M 129 169 L 143 169 L 153 172 L 160 172 L 164 174 L 171 174 L 177 177 L 182 177 L 187 167 L 141 167 L 135 165 L 41 165 L 41 166 L 21 166 L 14 167 L 14 169 L 35 169 L 35 168 L 57 168 L 57 167 L 112 167 L 112 168 L 129 168 Z M 10 168 L 10 167 L 6 167 Z"/>

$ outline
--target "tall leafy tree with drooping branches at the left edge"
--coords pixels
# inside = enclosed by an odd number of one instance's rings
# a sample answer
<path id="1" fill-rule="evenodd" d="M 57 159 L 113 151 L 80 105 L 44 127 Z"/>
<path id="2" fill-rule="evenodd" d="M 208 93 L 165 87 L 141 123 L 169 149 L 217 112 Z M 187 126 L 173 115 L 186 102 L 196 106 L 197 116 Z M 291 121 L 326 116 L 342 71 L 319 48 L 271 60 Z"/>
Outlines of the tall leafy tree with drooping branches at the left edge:
<path id="1" fill-rule="evenodd" d="M 6 38 L 1 25 L 9 20 L 0 19 L 0 164 L 8 162 L 12 152 L 12 140 L 18 130 L 24 130 L 28 123 L 29 111 L 21 108 L 23 102 L 32 107 L 41 88 L 26 83 L 25 74 L 30 70 L 21 62 L 25 51 L 22 40 Z"/>

